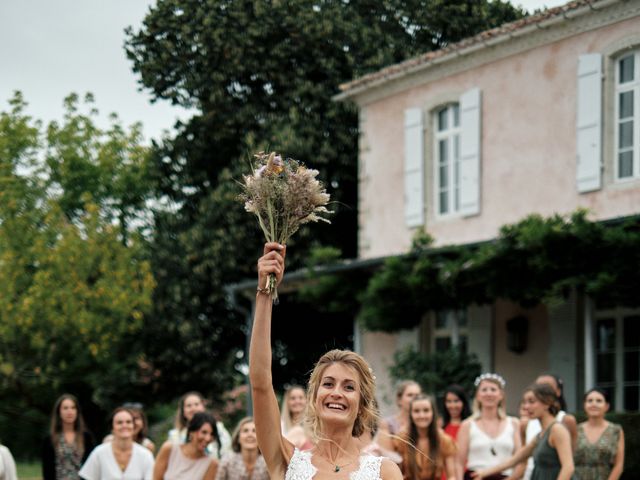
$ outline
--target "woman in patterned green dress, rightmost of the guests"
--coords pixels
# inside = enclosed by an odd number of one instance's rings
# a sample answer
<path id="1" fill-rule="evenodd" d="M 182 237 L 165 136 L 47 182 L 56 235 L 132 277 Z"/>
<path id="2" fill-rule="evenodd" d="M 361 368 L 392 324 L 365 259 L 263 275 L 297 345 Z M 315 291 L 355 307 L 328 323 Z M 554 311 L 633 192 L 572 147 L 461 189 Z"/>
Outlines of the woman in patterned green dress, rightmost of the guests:
<path id="1" fill-rule="evenodd" d="M 592 388 L 584 396 L 587 421 L 578 425 L 574 453 L 579 480 L 618 480 L 624 467 L 624 432 L 608 422 L 609 398 L 604 390 Z"/>

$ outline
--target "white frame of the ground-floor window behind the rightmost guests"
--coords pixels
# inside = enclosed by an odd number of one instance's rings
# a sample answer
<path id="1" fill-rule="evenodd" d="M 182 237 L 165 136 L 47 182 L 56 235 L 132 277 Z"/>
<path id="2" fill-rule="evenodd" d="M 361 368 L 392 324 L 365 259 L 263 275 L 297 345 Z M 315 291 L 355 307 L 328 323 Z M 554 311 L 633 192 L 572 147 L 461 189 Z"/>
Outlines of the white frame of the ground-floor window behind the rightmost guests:
<path id="1" fill-rule="evenodd" d="M 587 380 L 591 380 L 591 382 L 587 382 L 587 388 L 592 386 L 598 386 L 597 378 L 598 378 L 598 345 L 597 345 L 597 324 L 599 320 L 604 319 L 614 319 L 615 321 L 615 344 L 613 348 L 614 353 L 614 379 L 613 379 L 613 388 L 614 388 L 614 401 L 611 405 L 612 410 L 623 411 L 624 408 L 624 387 L 638 387 L 640 388 L 640 376 L 637 379 L 632 381 L 624 382 L 624 318 L 629 316 L 637 316 L 640 315 L 640 309 L 628 309 L 628 308 L 615 308 L 615 309 L 607 309 L 607 310 L 595 310 L 591 322 L 591 326 L 586 329 L 586 333 L 590 336 L 589 342 L 591 344 L 591 352 L 592 356 L 587 363 L 588 369 L 590 372 L 587 372 Z M 640 403 L 640 401 L 639 401 Z M 636 410 L 640 408 L 640 405 L 633 408 Z"/>

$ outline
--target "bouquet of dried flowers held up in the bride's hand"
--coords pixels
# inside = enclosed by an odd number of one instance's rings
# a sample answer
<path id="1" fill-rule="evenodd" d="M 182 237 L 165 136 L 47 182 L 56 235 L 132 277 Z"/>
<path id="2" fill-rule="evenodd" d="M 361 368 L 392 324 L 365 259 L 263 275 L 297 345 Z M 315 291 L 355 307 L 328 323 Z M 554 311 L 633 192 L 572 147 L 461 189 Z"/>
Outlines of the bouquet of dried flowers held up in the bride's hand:
<path id="1" fill-rule="evenodd" d="M 292 158 L 283 159 L 276 152 L 255 155 L 257 168 L 243 175 L 240 196 L 247 212 L 258 218 L 267 242 L 285 245 L 301 225 L 319 220 L 331 223 L 322 214 L 327 210 L 329 194 L 316 179 L 318 171 L 305 167 Z M 277 303 L 276 278 L 272 274 L 267 292 Z"/>

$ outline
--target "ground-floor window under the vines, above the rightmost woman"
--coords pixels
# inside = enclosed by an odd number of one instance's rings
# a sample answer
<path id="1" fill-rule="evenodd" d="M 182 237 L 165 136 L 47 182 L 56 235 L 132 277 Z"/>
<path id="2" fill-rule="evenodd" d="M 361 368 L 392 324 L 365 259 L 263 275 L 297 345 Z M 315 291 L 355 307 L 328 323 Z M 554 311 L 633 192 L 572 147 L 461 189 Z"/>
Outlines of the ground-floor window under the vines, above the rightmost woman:
<path id="1" fill-rule="evenodd" d="M 640 409 L 640 312 L 598 312 L 595 381 L 615 410 Z"/>

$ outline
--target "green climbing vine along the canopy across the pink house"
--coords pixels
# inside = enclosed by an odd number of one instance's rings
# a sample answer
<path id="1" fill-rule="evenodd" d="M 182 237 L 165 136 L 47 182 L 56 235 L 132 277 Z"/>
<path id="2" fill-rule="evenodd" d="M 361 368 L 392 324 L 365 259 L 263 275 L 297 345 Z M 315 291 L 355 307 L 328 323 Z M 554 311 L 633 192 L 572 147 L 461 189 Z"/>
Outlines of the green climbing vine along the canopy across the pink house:
<path id="1" fill-rule="evenodd" d="M 427 244 L 428 246 L 428 244 Z M 523 306 L 577 288 L 599 305 L 640 305 L 640 220 L 605 225 L 585 211 L 531 215 L 481 245 L 425 248 L 388 259 L 370 279 L 360 319 L 374 330 L 416 326 L 429 310 L 506 298 Z"/>

